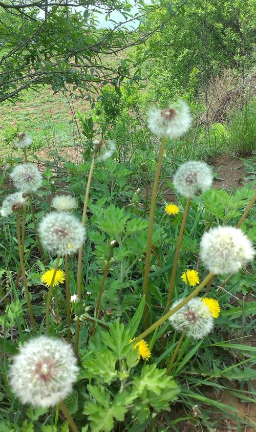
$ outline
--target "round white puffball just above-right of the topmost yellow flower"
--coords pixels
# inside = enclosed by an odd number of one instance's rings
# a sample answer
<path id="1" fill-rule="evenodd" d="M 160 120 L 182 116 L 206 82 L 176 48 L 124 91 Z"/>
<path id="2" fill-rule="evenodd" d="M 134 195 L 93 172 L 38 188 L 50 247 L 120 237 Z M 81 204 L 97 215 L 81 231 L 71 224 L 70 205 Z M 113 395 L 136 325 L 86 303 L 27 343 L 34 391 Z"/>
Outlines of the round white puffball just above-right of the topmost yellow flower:
<path id="1" fill-rule="evenodd" d="M 207 163 L 190 161 L 179 166 L 174 175 L 173 183 L 179 194 L 188 198 L 199 191 L 204 192 L 209 189 L 212 180 L 212 170 Z"/>

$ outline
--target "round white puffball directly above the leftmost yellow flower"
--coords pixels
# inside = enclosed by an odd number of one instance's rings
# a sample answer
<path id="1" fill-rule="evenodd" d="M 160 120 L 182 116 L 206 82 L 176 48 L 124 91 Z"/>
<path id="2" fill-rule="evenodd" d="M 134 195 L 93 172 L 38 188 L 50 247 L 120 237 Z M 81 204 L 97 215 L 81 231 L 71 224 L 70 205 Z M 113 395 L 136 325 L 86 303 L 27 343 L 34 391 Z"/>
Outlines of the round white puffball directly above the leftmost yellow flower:
<path id="1" fill-rule="evenodd" d="M 86 238 L 86 228 L 69 212 L 52 211 L 39 223 L 42 246 L 52 255 L 77 252 Z"/>

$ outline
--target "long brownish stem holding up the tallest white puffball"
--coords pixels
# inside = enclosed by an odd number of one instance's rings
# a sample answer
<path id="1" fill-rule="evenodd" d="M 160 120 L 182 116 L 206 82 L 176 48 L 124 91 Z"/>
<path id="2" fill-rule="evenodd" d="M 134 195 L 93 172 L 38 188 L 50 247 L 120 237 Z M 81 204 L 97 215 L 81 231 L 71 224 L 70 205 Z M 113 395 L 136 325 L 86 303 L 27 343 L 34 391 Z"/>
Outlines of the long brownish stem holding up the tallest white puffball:
<path id="1" fill-rule="evenodd" d="M 145 306 L 143 311 L 143 323 L 144 328 L 148 327 L 148 283 L 150 280 L 150 263 L 151 263 L 151 249 L 152 249 L 152 235 L 153 235 L 153 223 L 154 223 L 154 213 L 156 206 L 156 196 L 159 183 L 159 177 L 161 172 L 163 153 L 166 144 L 166 137 L 163 137 L 162 143 L 159 150 L 159 157 L 157 162 L 156 174 L 152 188 L 151 195 L 151 206 L 150 206 L 150 217 L 148 220 L 148 231 L 147 231 L 147 248 L 146 248 L 146 260 L 145 260 L 145 271 L 144 271 L 144 281 L 143 281 L 143 294 L 145 295 Z"/>

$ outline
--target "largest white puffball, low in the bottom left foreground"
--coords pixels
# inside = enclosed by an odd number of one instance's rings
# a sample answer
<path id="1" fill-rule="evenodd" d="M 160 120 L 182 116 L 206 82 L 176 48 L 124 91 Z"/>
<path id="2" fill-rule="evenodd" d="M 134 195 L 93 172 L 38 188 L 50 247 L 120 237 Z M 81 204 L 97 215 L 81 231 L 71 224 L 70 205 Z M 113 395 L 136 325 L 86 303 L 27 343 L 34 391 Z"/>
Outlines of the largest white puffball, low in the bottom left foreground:
<path id="1" fill-rule="evenodd" d="M 72 392 L 78 375 L 71 345 L 61 339 L 39 336 L 20 348 L 10 365 L 13 393 L 33 406 L 54 406 Z"/>

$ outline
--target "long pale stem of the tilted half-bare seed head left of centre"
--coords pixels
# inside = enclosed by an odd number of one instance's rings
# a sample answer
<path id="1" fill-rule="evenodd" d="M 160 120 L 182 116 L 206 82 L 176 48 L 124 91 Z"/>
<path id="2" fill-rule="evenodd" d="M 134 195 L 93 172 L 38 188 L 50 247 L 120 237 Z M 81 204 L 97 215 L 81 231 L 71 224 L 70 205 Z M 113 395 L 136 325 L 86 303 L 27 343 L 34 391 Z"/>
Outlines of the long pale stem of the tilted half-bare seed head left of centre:
<path id="1" fill-rule="evenodd" d="M 89 191 L 90 191 L 90 187 L 91 187 L 95 162 L 96 162 L 96 149 L 94 149 L 93 160 L 92 160 L 91 169 L 90 169 L 89 177 L 88 177 L 88 181 L 87 181 L 86 196 L 84 197 L 84 203 L 83 203 L 82 224 L 84 226 L 86 225 L 87 207 L 88 207 L 88 202 L 89 202 Z M 83 251 L 83 245 L 80 246 L 80 248 L 79 248 L 78 264 L 77 264 L 77 296 L 78 296 L 79 300 L 81 300 L 81 297 L 82 297 L 82 291 L 81 291 L 81 285 L 82 285 L 82 251 Z M 79 318 L 77 318 L 76 330 L 75 330 L 75 342 L 74 342 L 74 353 L 76 356 L 78 355 L 79 328 L 80 328 L 80 322 L 79 322 Z"/>

